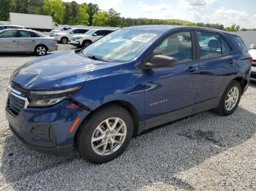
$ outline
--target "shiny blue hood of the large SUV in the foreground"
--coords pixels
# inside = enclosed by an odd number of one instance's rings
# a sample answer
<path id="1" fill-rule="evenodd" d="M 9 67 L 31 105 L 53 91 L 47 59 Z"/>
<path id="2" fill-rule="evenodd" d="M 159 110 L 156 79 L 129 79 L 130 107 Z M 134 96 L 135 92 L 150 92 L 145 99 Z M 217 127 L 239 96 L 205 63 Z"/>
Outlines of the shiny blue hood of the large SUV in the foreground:
<path id="1" fill-rule="evenodd" d="M 84 58 L 75 51 L 57 52 L 20 66 L 11 80 L 26 89 L 65 89 L 81 85 L 89 77 L 110 74 L 120 65 Z"/>

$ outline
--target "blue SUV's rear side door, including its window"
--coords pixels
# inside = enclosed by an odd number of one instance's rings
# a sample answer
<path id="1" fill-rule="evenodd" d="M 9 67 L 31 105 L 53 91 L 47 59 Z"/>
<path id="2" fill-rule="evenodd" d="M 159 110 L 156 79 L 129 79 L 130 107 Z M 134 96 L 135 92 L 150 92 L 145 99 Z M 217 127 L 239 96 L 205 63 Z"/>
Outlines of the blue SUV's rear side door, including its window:
<path id="1" fill-rule="evenodd" d="M 219 96 L 227 85 L 227 77 L 233 73 L 232 49 L 224 36 L 209 31 L 195 31 L 197 61 L 193 73 L 197 76 L 195 112 L 217 106 Z"/>

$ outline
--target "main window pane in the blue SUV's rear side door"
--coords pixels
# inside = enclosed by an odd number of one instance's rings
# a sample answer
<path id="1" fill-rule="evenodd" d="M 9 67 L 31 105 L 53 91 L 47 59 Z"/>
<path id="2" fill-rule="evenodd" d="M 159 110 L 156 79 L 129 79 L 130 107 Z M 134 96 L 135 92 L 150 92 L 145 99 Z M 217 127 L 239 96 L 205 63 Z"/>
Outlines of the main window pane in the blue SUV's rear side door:
<path id="1" fill-rule="evenodd" d="M 197 32 L 200 58 L 215 58 L 222 55 L 219 35 L 208 32 Z"/>

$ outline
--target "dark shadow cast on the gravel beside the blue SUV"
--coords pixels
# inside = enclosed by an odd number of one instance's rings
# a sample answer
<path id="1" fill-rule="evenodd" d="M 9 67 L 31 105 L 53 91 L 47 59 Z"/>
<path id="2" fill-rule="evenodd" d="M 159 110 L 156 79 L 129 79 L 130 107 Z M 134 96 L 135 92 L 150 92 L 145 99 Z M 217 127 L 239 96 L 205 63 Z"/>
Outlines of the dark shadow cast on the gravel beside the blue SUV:
<path id="1" fill-rule="evenodd" d="M 30 185 L 48 190 L 69 179 L 72 190 L 138 190 L 159 182 L 195 190 L 176 175 L 252 138 L 255 118 L 255 113 L 241 106 L 227 117 L 214 112 L 195 114 L 135 137 L 123 155 L 102 165 L 80 157 L 64 159 L 34 152 L 10 134 L 2 143 L 1 176 L 14 188 L 26 179 Z M 244 121 L 251 125 L 244 125 Z M 34 182 L 34 177 L 42 182 Z"/>

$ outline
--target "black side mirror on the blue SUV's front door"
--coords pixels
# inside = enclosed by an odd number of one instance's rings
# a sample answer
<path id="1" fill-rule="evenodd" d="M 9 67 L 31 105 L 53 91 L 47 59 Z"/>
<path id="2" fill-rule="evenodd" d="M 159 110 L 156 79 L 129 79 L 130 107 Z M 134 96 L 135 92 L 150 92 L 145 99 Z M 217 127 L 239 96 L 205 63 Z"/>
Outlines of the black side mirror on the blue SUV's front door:
<path id="1" fill-rule="evenodd" d="M 154 55 L 149 63 L 145 64 L 146 69 L 155 69 L 162 67 L 174 67 L 176 59 L 166 55 Z"/>

